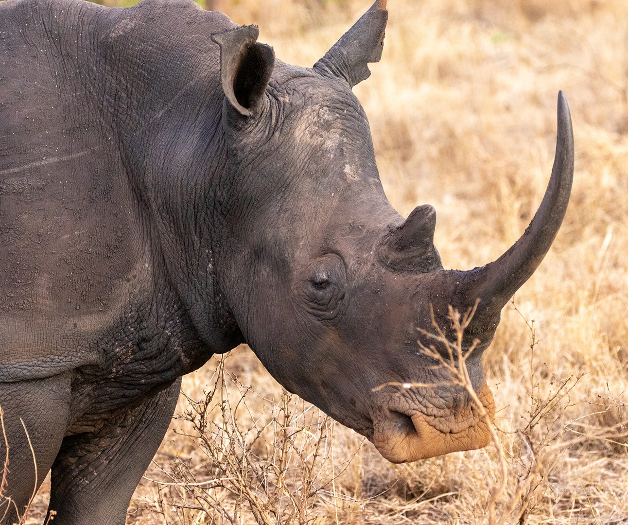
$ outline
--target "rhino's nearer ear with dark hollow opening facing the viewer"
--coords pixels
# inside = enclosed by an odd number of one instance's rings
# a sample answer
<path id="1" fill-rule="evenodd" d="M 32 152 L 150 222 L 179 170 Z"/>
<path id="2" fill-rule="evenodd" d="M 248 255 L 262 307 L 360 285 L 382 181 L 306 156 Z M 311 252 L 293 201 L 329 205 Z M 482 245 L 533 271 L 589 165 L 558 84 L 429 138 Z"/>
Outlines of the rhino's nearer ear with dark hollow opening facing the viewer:
<path id="1" fill-rule="evenodd" d="M 231 106 L 247 117 L 261 104 L 274 67 L 273 48 L 258 43 L 257 36 L 257 26 L 212 35 L 220 46 L 222 90 Z"/>

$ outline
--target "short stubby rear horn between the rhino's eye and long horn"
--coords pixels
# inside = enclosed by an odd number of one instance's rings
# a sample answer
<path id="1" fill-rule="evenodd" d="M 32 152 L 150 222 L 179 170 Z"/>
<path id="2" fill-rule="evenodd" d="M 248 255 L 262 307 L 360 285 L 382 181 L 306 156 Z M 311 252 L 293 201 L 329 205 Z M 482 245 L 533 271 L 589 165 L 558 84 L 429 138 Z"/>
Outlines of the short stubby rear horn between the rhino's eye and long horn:
<path id="1" fill-rule="evenodd" d="M 394 269 L 425 273 L 442 268 L 434 247 L 436 211 L 426 204 L 414 208 L 401 225 L 382 239 L 380 259 Z"/>

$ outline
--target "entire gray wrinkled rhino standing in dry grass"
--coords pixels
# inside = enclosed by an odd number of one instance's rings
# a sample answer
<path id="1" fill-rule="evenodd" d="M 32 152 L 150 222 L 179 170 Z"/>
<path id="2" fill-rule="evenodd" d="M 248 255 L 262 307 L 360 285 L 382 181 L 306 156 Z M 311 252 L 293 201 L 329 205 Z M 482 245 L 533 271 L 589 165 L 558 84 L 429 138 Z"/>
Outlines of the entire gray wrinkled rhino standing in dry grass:
<path id="1" fill-rule="evenodd" d="M 487 444 L 416 328 L 433 311 L 452 335 L 447 306 L 480 301 L 463 347 L 479 340 L 468 372 L 492 418 L 480 356 L 565 214 L 569 113 L 560 95 L 526 234 L 444 270 L 433 208 L 404 222 L 387 202 L 351 92 L 381 56 L 384 7 L 300 68 L 191 0 L 0 3 L 0 521 L 51 469 L 55 524 L 124 523 L 180 377 L 242 342 L 391 461 Z"/>

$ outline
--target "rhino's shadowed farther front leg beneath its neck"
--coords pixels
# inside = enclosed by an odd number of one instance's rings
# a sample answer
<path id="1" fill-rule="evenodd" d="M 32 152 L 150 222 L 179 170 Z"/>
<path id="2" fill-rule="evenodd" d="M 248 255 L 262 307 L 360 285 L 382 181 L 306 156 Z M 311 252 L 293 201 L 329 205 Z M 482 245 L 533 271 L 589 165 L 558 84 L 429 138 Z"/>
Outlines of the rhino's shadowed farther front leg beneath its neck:
<path id="1" fill-rule="evenodd" d="M 55 525 L 124 525 L 131 496 L 168 430 L 180 387 L 178 379 L 104 425 L 85 423 L 87 431 L 63 439 L 51 477 Z"/>

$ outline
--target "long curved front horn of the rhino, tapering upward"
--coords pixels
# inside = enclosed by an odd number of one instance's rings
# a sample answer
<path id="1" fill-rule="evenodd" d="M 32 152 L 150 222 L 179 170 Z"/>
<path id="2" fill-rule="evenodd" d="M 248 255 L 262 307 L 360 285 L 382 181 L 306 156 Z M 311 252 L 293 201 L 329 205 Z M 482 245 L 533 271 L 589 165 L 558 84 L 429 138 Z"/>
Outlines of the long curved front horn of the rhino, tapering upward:
<path id="1" fill-rule="evenodd" d="M 556 156 L 543 201 L 526 232 L 497 261 L 468 272 L 467 299 L 497 313 L 538 268 L 560 228 L 573 179 L 573 130 L 567 100 L 558 93 Z"/>

